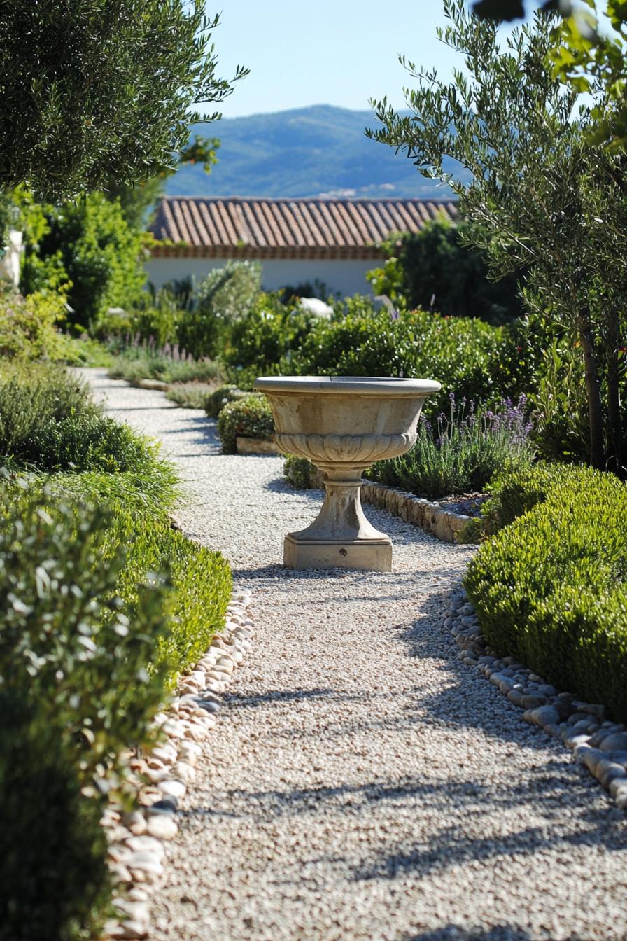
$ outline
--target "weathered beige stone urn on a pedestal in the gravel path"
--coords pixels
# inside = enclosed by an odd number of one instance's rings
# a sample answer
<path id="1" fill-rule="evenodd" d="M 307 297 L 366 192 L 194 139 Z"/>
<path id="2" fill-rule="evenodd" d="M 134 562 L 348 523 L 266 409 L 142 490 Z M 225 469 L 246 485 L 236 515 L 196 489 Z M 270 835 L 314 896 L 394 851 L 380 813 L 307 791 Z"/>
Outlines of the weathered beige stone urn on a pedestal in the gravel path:
<path id="1" fill-rule="evenodd" d="M 362 470 L 413 447 L 422 404 L 440 383 L 268 376 L 257 379 L 255 388 L 268 397 L 279 451 L 307 457 L 322 471 L 326 490 L 318 518 L 286 535 L 285 565 L 391 571 L 392 542 L 374 529 L 361 507 Z"/>

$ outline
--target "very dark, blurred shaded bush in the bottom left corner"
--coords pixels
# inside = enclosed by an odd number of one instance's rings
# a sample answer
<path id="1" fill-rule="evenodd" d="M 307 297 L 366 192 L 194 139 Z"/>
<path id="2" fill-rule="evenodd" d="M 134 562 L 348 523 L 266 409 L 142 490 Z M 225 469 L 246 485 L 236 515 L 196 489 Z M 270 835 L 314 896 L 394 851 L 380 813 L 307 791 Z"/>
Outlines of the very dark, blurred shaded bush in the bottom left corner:
<path id="1" fill-rule="evenodd" d="M 0 941 L 92 941 L 111 894 L 101 806 L 43 710 L 0 694 Z"/>

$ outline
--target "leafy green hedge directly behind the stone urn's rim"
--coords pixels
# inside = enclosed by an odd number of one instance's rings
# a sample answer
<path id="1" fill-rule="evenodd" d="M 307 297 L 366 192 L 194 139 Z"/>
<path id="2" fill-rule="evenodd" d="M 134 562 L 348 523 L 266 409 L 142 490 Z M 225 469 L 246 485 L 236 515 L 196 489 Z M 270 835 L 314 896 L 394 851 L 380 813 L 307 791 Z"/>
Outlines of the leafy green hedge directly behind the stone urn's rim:
<path id="1" fill-rule="evenodd" d="M 446 409 L 447 394 L 496 400 L 520 389 L 521 362 L 509 332 L 479 320 L 404 311 L 393 320 L 368 298 L 331 320 L 290 311 L 263 295 L 232 327 L 223 359 L 229 379 L 250 388 L 259 375 L 404 375 L 437 379 L 443 391 L 429 410 Z"/>

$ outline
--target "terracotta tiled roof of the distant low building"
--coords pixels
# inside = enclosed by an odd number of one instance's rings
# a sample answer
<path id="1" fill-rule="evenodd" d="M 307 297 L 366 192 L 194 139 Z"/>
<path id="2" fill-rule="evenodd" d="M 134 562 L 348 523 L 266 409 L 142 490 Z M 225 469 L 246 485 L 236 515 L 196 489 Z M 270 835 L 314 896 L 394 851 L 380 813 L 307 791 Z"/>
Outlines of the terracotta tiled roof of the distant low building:
<path id="1" fill-rule="evenodd" d="M 185 246 L 153 254 L 248 258 L 376 257 L 392 232 L 419 231 L 436 215 L 455 218 L 451 199 L 199 199 L 165 197 L 150 226 Z"/>

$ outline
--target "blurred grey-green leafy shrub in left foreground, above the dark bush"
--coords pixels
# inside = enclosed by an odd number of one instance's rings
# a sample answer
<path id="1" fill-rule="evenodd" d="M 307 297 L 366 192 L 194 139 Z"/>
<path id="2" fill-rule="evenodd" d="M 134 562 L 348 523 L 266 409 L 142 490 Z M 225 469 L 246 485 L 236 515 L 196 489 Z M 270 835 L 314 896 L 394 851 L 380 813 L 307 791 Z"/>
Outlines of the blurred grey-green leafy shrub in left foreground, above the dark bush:
<path id="1" fill-rule="evenodd" d="M 129 550 L 112 539 L 111 511 L 37 483 L 0 494 L 0 676 L 43 711 L 91 787 L 115 779 L 119 754 L 144 741 L 160 707 L 172 593 L 145 570 L 131 620 L 118 592 Z"/>

